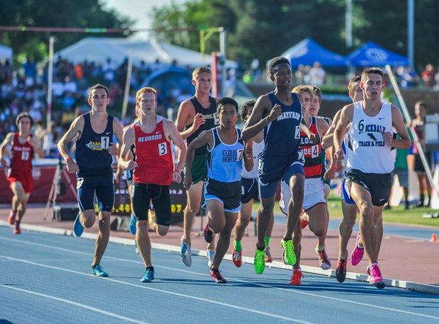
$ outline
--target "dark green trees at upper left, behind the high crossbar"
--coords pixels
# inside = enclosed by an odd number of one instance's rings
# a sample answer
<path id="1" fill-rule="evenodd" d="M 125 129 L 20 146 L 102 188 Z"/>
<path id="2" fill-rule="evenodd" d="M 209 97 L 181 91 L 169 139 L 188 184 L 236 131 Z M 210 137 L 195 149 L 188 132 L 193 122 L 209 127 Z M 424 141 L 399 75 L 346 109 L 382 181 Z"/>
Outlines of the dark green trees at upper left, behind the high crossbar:
<path id="1" fill-rule="evenodd" d="M 129 28 L 133 23 L 115 11 L 104 11 L 98 0 L 3 0 L 0 17 L 1 25 L 25 27 Z M 40 61 L 47 57 L 51 35 L 56 37 L 55 51 L 86 37 L 84 33 L 0 31 L 0 42 L 13 48 L 14 58 L 28 56 Z"/>

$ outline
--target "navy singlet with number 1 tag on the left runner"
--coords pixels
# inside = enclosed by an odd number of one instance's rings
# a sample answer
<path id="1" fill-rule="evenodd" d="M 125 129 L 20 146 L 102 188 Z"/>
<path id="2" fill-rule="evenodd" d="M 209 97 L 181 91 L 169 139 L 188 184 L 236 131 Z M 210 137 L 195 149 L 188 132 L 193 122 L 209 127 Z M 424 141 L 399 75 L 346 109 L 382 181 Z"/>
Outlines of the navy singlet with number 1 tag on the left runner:
<path id="1" fill-rule="evenodd" d="M 90 112 L 83 116 L 84 129 L 81 137 L 76 141 L 75 157 L 79 166 L 78 176 L 96 175 L 96 173 L 111 171 L 113 158 L 107 149 L 113 139 L 113 117 L 108 115 L 106 129 L 98 134 L 91 127 Z"/>

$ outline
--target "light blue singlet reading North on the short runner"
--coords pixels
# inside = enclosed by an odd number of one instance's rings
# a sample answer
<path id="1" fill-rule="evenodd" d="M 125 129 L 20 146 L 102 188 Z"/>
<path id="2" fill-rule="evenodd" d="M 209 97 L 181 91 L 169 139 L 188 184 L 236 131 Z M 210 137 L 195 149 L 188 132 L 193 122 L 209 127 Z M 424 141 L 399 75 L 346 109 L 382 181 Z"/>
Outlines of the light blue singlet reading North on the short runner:
<path id="1" fill-rule="evenodd" d="M 207 149 L 207 176 L 222 183 L 234 183 L 241 180 L 244 141 L 241 131 L 236 129 L 234 144 L 224 144 L 218 134 L 218 127 L 211 130 L 213 146 Z"/>

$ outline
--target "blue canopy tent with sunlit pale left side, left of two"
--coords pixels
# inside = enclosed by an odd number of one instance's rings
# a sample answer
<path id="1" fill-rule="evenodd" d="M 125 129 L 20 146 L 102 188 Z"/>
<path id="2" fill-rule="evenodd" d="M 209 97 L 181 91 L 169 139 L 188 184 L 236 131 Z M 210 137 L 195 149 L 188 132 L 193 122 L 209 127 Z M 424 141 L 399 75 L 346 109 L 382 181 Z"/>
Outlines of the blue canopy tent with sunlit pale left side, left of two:
<path id="1" fill-rule="evenodd" d="M 290 59 L 292 69 L 299 64 L 312 65 L 314 62 L 319 62 L 322 66 L 348 66 L 346 57 L 326 50 L 309 37 L 290 47 L 280 56 Z"/>

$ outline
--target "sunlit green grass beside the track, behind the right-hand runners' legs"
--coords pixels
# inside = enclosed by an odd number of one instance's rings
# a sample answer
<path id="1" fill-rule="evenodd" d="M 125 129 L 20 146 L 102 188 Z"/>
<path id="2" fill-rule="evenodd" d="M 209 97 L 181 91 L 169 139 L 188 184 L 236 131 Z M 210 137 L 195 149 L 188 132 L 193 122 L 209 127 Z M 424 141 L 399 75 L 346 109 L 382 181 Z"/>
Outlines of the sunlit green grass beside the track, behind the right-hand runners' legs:
<path id="1" fill-rule="evenodd" d="M 258 210 L 259 203 L 253 204 L 253 210 Z M 331 219 L 341 219 L 343 214 L 341 212 L 341 199 L 335 195 L 329 195 L 328 199 L 329 216 Z M 279 209 L 279 204 L 275 204 L 275 214 L 282 213 Z M 393 224 L 411 224 L 411 225 L 428 225 L 439 227 L 439 217 L 436 218 L 424 218 L 423 214 L 439 214 L 438 209 L 429 208 L 413 208 L 404 209 L 404 205 L 392 207 L 392 209 L 384 210 L 382 213 L 384 222 Z"/>

